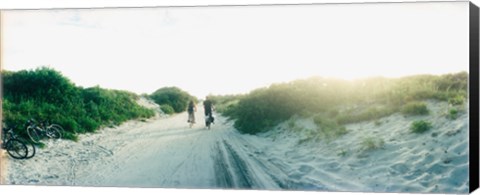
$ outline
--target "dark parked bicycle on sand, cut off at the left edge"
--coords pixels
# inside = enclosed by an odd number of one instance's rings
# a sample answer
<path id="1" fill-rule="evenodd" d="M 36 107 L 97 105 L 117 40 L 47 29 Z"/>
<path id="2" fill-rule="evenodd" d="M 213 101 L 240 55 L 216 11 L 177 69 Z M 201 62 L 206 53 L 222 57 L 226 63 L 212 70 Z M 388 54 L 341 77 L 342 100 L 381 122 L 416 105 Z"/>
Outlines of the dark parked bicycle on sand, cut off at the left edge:
<path id="1" fill-rule="evenodd" d="M 35 156 L 35 146 L 30 142 L 22 141 L 13 132 L 13 128 L 2 128 L 2 149 L 15 159 L 29 159 Z"/>

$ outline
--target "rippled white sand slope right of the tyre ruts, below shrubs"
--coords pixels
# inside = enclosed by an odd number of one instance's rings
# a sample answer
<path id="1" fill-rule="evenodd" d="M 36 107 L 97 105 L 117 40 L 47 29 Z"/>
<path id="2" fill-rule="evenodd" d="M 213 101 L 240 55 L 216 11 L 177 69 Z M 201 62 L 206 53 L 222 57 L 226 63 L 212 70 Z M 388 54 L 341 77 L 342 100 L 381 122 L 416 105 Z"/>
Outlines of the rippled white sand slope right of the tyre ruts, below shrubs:
<path id="1" fill-rule="evenodd" d="M 282 167 L 307 188 L 370 192 L 468 192 L 468 113 L 456 120 L 444 115 L 446 103 L 428 102 L 429 116 L 395 114 L 379 120 L 348 125 L 348 134 L 333 140 L 301 143 L 315 128 L 312 120 L 296 120 L 300 133 L 278 130 L 256 145 L 273 164 Z M 468 111 L 465 107 L 464 111 Z M 412 121 L 424 119 L 433 128 L 423 134 L 409 132 Z M 288 125 L 280 129 L 288 129 Z M 372 137 L 384 144 L 367 150 L 362 144 Z M 276 140 L 276 141 L 273 141 Z M 283 144 L 274 144 L 282 142 Z"/>

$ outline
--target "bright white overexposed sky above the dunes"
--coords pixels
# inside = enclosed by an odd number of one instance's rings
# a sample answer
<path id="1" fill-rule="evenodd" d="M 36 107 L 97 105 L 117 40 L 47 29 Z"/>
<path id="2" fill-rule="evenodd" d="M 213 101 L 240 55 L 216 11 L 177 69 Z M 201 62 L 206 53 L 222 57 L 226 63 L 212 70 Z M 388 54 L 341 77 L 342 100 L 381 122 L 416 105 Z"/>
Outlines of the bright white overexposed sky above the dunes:
<path id="1" fill-rule="evenodd" d="M 203 98 L 310 76 L 468 71 L 468 2 L 9 10 L 2 66 Z"/>

